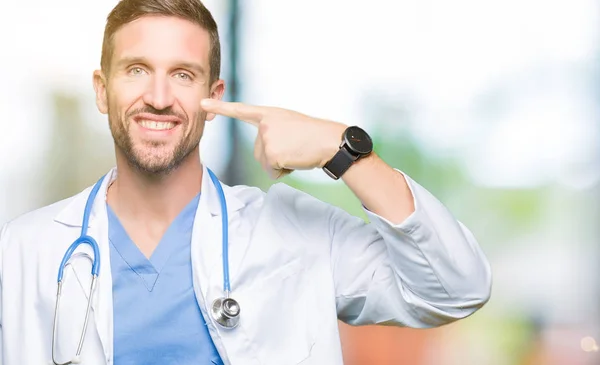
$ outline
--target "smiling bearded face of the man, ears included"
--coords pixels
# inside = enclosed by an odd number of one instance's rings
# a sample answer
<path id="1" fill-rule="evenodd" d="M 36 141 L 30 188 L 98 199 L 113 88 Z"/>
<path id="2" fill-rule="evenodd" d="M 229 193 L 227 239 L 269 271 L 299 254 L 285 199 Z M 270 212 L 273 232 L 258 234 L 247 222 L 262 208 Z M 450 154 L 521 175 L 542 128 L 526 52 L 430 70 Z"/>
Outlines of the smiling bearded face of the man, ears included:
<path id="1" fill-rule="evenodd" d="M 114 35 L 108 75 L 94 74 L 98 108 L 108 114 L 117 157 L 147 174 L 178 167 L 198 144 L 207 115 L 203 98 L 221 98 L 210 85 L 210 36 L 175 17 L 142 17 Z"/>

